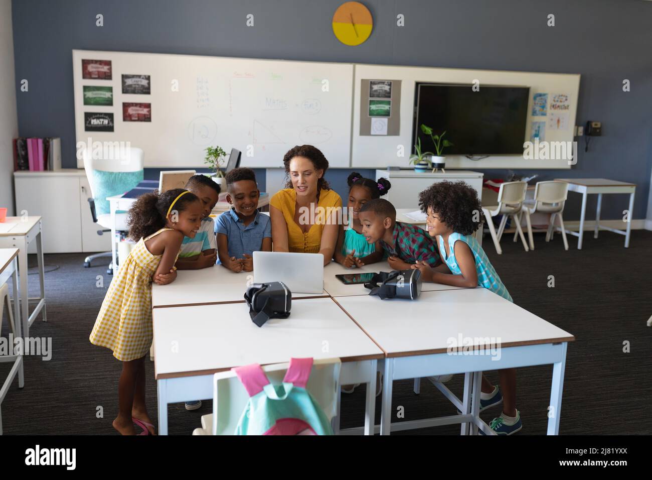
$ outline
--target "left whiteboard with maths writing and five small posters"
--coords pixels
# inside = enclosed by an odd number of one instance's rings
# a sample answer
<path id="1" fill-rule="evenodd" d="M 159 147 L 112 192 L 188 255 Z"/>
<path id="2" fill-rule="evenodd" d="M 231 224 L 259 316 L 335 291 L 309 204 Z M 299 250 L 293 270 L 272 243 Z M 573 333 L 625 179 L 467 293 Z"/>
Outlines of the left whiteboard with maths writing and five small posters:
<path id="1" fill-rule="evenodd" d="M 111 80 L 83 79 L 82 59 L 110 60 Z M 194 168 L 205 167 L 207 146 L 272 168 L 312 144 L 331 167 L 349 167 L 350 63 L 72 50 L 72 65 L 77 142 L 130 142 L 145 167 Z M 151 93 L 123 93 L 123 74 L 149 75 Z M 113 106 L 84 105 L 83 86 L 111 86 Z M 124 121 L 123 103 L 151 104 L 151 121 Z M 113 131 L 85 131 L 84 112 L 112 113 Z"/>

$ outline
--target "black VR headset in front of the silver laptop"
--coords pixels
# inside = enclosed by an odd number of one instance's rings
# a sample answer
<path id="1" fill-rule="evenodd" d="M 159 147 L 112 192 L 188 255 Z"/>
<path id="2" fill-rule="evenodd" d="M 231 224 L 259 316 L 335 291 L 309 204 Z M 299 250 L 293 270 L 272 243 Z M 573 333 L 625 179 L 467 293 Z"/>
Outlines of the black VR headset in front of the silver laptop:
<path id="1" fill-rule="evenodd" d="M 282 281 L 254 283 L 246 289 L 244 300 L 252 321 L 262 327 L 271 318 L 288 318 L 292 293 Z"/>

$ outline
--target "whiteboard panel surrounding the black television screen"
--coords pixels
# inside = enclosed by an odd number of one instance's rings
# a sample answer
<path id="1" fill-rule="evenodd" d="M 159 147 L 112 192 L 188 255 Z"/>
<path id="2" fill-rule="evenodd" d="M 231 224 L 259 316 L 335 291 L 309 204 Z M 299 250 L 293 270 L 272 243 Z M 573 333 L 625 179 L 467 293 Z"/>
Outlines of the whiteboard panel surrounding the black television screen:
<path id="1" fill-rule="evenodd" d="M 360 135 L 360 101 L 361 80 L 401 80 L 400 133 L 398 136 L 362 136 Z M 524 86 L 530 88 L 527 106 L 526 138 L 530 140 L 532 121 L 546 121 L 547 117 L 532 116 L 532 99 L 535 93 L 551 95 L 563 93 L 569 95 L 569 115 L 566 129 L 546 129 L 546 141 L 572 142 L 576 121 L 578 94 L 580 91 L 579 74 L 557 74 L 542 72 L 514 72 L 471 69 L 440 69 L 430 67 L 396 67 L 391 65 L 355 65 L 353 98 L 353 167 L 378 168 L 408 164 L 411 152 L 413 132 L 413 112 L 416 82 L 468 84 L 479 80 L 480 88 L 484 85 Z M 550 110 L 548 110 L 550 115 Z M 400 154 L 403 153 L 403 156 Z M 522 155 L 492 155 L 486 159 L 473 161 L 462 155 L 447 155 L 446 168 L 571 168 L 564 159 L 526 160 Z"/>

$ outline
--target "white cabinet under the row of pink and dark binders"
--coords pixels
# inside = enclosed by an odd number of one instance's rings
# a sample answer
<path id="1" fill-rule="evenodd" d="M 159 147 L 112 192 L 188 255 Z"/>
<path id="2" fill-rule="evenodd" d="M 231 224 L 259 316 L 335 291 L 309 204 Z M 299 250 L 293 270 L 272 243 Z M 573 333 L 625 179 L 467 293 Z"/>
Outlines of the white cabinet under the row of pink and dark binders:
<path id="1" fill-rule="evenodd" d="M 14 187 L 16 214 L 42 217 L 44 253 L 110 251 L 110 234 L 99 236 L 102 227 L 93 223 L 83 170 L 14 172 Z"/>

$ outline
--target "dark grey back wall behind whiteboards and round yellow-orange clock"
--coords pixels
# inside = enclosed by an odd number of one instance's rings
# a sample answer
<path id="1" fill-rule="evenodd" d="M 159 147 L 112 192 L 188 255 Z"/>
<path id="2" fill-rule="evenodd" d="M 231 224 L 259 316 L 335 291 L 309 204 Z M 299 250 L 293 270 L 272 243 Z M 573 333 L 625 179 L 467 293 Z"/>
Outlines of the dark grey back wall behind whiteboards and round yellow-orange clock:
<path id="1" fill-rule="evenodd" d="M 652 2 L 366 0 L 374 32 L 357 47 L 344 46 L 333 35 L 331 18 L 340 3 L 14 0 L 20 135 L 61 136 L 63 165 L 75 166 L 74 48 L 579 73 L 577 123 L 600 120 L 604 135 L 593 140 L 588 153 L 581 150 L 572 170 L 541 170 L 541 179 L 636 182 L 633 217 L 645 217 L 652 169 Z M 95 26 L 98 13 L 104 15 L 104 27 Z M 245 26 L 250 13 L 254 27 Z M 405 16 L 404 27 L 396 27 L 399 13 Z M 555 27 L 546 25 L 550 13 L 556 16 Z M 22 78 L 29 79 L 28 93 L 18 89 Z M 631 82 L 629 93 L 622 91 L 625 78 Z M 340 195 L 347 194 L 349 171 L 328 174 Z M 484 172 L 489 178 L 505 176 L 505 170 Z M 567 219 L 578 217 L 578 196 L 571 195 Z M 624 198 L 607 199 L 602 217 L 621 218 L 626 206 Z"/>

